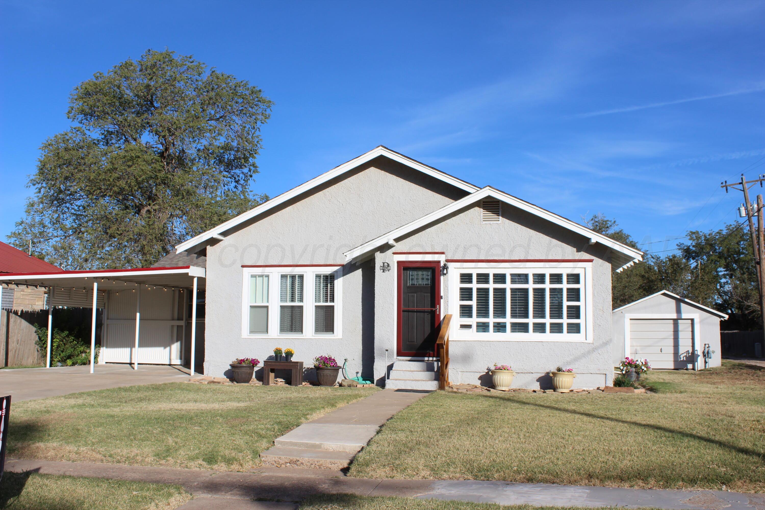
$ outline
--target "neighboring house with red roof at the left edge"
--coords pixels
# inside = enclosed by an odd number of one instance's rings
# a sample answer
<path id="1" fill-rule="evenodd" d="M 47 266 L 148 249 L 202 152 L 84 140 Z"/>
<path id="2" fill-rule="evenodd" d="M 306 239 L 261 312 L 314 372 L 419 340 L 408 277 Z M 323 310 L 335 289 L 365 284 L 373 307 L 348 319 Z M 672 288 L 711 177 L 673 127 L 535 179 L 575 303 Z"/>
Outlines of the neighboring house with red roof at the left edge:
<path id="1" fill-rule="evenodd" d="M 63 269 L 0 242 L 0 275 L 37 271 L 63 271 Z M 2 284 L 3 310 L 45 310 L 45 289 L 28 285 Z"/>

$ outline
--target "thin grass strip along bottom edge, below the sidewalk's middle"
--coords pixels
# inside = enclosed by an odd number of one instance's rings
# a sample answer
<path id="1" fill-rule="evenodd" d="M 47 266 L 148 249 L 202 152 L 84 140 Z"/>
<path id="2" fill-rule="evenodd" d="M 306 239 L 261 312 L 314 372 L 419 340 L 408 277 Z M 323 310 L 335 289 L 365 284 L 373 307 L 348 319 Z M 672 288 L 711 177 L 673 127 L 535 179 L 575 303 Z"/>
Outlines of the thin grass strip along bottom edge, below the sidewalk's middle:
<path id="1" fill-rule="evenodd" d="M 307 499 L 300 510 L 597 510 L 575 506 L 495 505 L 438 499 L 370 498 L 359 495 L 321 495 Z"/>

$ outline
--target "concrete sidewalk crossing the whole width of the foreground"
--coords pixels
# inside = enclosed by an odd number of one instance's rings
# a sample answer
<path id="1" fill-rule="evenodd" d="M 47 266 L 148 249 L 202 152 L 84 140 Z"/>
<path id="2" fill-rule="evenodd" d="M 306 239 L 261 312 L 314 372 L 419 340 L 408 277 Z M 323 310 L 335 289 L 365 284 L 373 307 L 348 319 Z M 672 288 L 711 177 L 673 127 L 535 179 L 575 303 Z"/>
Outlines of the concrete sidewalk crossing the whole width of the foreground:
<path id="1" fill-rule="evenodd" d="M 496 503 L 500 505 L 555 505 L 582 507 L 653 507 L 667 510 L 765 510 L 765 494 L 723 491 L 620 489 L 556 486 L 541 483 L 480 482 L 473 480 L 393 480 L 348 478 L 321 469 L 264 468 L 253 473 L 203 471 L 45 460 L 7 460 L 5 469 L 34 471 L 183 486 L 194 495 L 184 510 L 228 508 L 296 508 L 309 495 L 355 494 L 400 496 Z M 253 502 L 253 499 L 280 501 Z"/>

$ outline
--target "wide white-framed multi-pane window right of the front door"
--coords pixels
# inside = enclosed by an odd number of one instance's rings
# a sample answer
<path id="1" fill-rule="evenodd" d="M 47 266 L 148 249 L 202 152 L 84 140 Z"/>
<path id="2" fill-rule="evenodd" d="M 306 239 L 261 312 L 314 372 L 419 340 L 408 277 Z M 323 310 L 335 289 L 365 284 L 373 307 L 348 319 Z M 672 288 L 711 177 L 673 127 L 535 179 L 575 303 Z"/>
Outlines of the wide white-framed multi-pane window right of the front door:
<path id="1" fill-rule="evenodd" d="M 451 268 L 454 339 L 591 341 L 590 268 Z"/>

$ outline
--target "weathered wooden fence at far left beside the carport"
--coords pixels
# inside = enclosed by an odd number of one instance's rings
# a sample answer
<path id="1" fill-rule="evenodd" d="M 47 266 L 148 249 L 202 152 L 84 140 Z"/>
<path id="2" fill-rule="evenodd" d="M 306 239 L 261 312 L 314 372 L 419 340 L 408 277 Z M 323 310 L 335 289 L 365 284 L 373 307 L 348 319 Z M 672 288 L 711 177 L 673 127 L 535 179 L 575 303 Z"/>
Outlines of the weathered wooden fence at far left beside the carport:
<path id="1" fill-rule="evenodd" d="M 43 365 L 34 324 L 47 326 L 47 310 L 0 310 L 0 366 Z"/>

